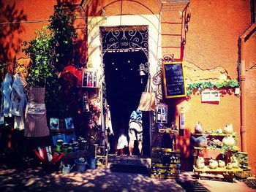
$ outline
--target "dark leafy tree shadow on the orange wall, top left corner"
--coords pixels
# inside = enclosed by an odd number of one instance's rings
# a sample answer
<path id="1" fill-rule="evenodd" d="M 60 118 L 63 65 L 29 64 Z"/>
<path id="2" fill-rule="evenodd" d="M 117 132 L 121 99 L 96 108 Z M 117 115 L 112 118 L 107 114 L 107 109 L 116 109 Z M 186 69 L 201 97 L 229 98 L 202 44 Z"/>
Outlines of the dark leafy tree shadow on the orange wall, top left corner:
<path id="1" fill-rule="evenodd" d="M 23 13 L 23 9 L 18 10 L 15 2 L 4 4 L 4 1 L 0 1 L 0 50 L 2 52 L 0 62 L 8 64 L 10 70 L 12 70 L 11 63 L 14 54 L 20 50 L 22 44 L 22 39 L 15 39 L 17 36 L 15 34 L 23 33 L 25 29 L 19 22 L 25 20 L 27 20 L 27 15 Z"/>

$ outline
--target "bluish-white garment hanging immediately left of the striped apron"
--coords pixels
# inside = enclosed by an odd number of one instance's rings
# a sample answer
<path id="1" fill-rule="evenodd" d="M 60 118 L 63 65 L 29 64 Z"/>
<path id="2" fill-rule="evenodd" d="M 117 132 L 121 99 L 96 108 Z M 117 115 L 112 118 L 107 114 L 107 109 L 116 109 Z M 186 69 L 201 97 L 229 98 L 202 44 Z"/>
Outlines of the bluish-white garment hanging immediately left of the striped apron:
<path id="1" fill-rule="evenodd" d="M 25 128 L 24 110 L 26 94 L 24 93 L 24 85 L 26 85 L 26 82 L 19 74 L 15 74 L 15 79 L 12 84 L 10 113 L 14 115 L 14 128 L 19 130 Z"/>

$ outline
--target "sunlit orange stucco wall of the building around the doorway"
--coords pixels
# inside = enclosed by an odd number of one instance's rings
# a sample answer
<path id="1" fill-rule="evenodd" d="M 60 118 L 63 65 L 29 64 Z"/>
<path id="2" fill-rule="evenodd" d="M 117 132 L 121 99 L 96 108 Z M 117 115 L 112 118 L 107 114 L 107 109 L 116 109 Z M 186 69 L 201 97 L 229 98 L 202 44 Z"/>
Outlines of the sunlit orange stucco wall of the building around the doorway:
<path id="1" fill-rule="evenodd" d="M 62 1 L 77 4 L 80 1 Z M 39 22 L 39 20 L 48 20 L 53 13 L 53 6 L 61 4 L 59 0 L 51 1 L 3 1 L 0 8 L 2 12 L 9 12 L 10 15 L 18 11 L 11 20 L 7 20 L 1 14 L 1 23 L 16 21 L 18 15 L 23 15 L 21 21 L 37 20 L 35 23 L 23 23 L 18 26 L 18 30 L 14 30 L 12 25 L 1 25 L 4 30 L 10 29 L 10 33 L 0 37 L 1 44 L 6 49 L 5 59 L 12 61 L 14 55 L 17 58 L 25 57 L 21 53 L 20 45 L 24 40 L 29 41 L 34 37 L 34 31 L 39 30 L 42 26 L 48 24 L 47 21 Z M 8 5 L 13 5 L 13 10 L 7 9 Z M 184 48 L 184 64 L 187 82 L 198 80 L 219 80 L 219 78 L 237 78 L 237 61 L 238 61 L 238 36 L 250 24 L 250 7 L 249 0 L 238 1 L 206 1 L 191 0 L 191 20 L 189 21 L 189 31 L 187 33 L 186 45 Z M 162 9 L 162 55 L 166 53 L 174 54 L 175 58 L 180 57 L 181 49 L 180 37 L 181 22 L 179 15 L 180 8 L 173 5 L 173 9 L 169 9 L 164 5 Z M 102 8 L 104 12 L 102 12 Z M 140 14 L 159 14 L 159 6 L 155 0 L 146 2 L 142 1 L 99 1 L 94 0 L 89 9 L 90 15 L 140 15 Z M 10 17 L 9 17 L 10 19 Z M 176 23 L 176 24 L 175 24 Z M 78 34 L 80 40 L 84 40 L 85 27 L 83 18 L 77 23 Z M 18 32 L 19 31 L 19 32 Z M 255 42 L 256 35 L 246 42 L 244 47 L 244 59 L 246 61 L 246 128 L 247 142 L 256 140 L 254 134 L 255 123 Z M 9 46 L 12 45 L 12 46 Z M 83 45 L 84 46 L 84 45 Z M 86 50 L 83 47 L 81 50 Z M 0 50 L 1 52 L 3 50 Z M 0 54 L 1 55 L 1 54 Z M 3 59 L 0 56 L 1 59 Z M 226 93 L 225 93 L 226 91 Z M 230 91 L 227 93 L 227 91 Z M 217 129 L 223 128 L 227 123 L 233 123 L 233 127 L 238 134 L 238 144 L 241 147 L 241 139 L 239 137 L 240 130 L 240 97 L 235 96 L 233 89 L 223 91 L 219 103 L 202 103 L 200 101 L 200 93 L 195 93 L 189 99 L 167 99 L 168 104 L 176 104 L 176 110 L 172 111 L 172 115 L 178 120 L 178 110 L 185 107 L 186 111 L 186 134 L 180 138 L 181 147 L 186 147 L 184 155 L 189 155 L 187 150 L 189 145 L 189 133 L 193 131 L 197 120 L 203 124 L 203 128 Z M 251 145 L 252 146 L 252 145 Z M 256 173 L 255 152 L 256 148 L 249 147 L 249 165 L 252 166 L 252 172 Z M 186 154 L 185 154 L 186 153 Z"/>

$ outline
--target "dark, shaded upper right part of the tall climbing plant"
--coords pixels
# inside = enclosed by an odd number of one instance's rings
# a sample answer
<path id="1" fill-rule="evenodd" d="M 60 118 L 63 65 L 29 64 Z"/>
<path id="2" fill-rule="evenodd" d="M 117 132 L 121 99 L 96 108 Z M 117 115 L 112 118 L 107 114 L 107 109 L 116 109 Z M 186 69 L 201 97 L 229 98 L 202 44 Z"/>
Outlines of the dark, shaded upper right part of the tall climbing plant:
<path id="1" fill-rule="evenodd" d="M 74 19 L 72 12 L 63 7 L 54 8 L 54 13 L 50 16 L 48 28 L 53 33 L 54 63 L 59 72 L 74 58 L 74 45 L 78 37 L 72 25 Z"/>

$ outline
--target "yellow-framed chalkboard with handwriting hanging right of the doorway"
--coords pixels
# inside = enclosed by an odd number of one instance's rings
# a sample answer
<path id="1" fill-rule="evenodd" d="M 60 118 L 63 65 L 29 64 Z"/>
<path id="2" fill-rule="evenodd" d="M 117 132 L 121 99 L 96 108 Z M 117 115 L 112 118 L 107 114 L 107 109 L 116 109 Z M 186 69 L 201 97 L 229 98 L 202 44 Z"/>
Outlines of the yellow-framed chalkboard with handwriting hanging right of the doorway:
<path id="1" fill-rule="evenodd" d="M 165 85 L 165 97 L 175 98 L 187 96 L 183 63 L 165 63 L 163 64 L 162 69 Z"/>

